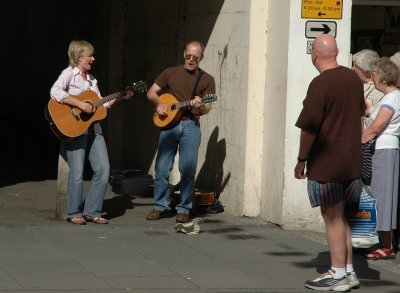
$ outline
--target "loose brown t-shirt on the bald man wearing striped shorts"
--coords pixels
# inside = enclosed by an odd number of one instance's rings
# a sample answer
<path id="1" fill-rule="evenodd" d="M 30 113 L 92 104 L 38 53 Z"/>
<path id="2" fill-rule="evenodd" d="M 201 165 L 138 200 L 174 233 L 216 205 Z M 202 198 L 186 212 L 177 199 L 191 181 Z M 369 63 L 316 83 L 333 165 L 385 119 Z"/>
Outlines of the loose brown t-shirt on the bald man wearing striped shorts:
<path id="1" fill-rule="evenodd" d="M 361 178 L 363 86 L 356 73 L 339 66 L 310 83 L 296 126 L 316 134 L 307 177 L 321 182 Z"/>

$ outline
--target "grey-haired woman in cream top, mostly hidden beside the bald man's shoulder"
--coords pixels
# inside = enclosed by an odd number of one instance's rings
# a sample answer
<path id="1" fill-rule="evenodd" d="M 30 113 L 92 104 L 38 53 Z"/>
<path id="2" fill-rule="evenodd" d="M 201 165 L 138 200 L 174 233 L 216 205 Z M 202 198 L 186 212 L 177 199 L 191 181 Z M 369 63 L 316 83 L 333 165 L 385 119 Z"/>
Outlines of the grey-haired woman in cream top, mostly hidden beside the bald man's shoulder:
<path id="1" fill-rule="evenodd" d="M 378 53 L 373 50 L 361 50 L 353 55 L 353 70 L 364 84 L 364 98 L 367 104 L 366 116 L 374 110 L 376 103 L 383 97 L 382 92 L 378 91 L 371 79 L 371 66 L 379 59 Z"/>

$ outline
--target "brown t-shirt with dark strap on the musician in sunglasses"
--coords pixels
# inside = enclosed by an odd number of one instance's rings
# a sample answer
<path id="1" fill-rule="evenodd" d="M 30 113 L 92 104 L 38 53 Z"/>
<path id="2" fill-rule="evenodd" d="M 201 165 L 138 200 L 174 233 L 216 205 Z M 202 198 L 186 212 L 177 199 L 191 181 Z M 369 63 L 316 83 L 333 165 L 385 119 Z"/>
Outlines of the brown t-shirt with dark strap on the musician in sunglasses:
<path id="1" fill-rule="evenodd" d="M 198 74 L 199 71 L 191 73 L 183 65 L 169 67 L 161 72 L 154 83 L 161 89 L 167 89 L 179 101 L 183 102 L 191 99 Z M 215 94 L 215 80 L 210 74 L 203 71 L 197 86 L 196 96 L 203 97 L 207 94 Z"/>

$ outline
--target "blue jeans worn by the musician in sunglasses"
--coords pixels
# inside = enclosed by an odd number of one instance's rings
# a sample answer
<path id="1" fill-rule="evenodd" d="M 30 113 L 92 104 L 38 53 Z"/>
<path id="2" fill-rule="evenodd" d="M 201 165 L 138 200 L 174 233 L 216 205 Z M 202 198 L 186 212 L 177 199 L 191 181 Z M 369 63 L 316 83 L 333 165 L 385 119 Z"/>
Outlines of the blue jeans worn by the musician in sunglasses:
<path id="1" fill-rule="evenodd" d="M 200 140 L 200 127 L 198 122 L 193 120 L 182 120 L 175 127 L 161 131 L 154 181 L 154 208 L 156 210 L 164 212 L 171 203 L 169 175 L 174 165 L 176 152 L 179 150 L 181 189 L 176 211 L 190 213 Z"/>

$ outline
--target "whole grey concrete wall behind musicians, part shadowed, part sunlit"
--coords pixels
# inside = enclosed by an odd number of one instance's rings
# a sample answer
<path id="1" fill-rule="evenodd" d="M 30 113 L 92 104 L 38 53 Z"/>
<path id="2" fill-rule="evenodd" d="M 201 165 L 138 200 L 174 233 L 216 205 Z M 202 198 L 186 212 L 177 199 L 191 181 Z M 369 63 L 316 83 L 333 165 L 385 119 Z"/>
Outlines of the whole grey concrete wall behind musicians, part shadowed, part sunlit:
<path id="1" fill-rule="evenodd" d="M 244 205 L 250 2 L 110 2 L 109 80 L 115 85 L 137 79 L 151 85 L 161 70 L 183 63 L 187 41 L 206 44 L 200 66 L 215 77 L 218 101 L 201 119 L 196 186 L 222 194 L 227 211 L 238 215 Z M 122 103 L 107 120 L 111 165 L 154 174 L 159 130 L 152 123 L 153 107 L 143 95 Z M 176 168 L 170 180 L 179 181 Z"/>

